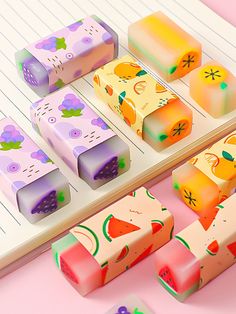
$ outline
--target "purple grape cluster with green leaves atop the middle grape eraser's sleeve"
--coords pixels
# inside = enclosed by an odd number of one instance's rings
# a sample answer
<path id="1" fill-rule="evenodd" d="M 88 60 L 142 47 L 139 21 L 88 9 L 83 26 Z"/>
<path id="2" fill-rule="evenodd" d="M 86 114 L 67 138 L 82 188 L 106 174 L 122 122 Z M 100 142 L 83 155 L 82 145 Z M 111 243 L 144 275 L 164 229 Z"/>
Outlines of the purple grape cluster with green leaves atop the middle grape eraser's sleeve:
<path id="1" fill-rule="evenodd" d="M 71 118 L 82 116 L 84 107 L 84 103 L 76 95 L 67 94 L 58 109 L 62 111 L 63 118 Z"/>

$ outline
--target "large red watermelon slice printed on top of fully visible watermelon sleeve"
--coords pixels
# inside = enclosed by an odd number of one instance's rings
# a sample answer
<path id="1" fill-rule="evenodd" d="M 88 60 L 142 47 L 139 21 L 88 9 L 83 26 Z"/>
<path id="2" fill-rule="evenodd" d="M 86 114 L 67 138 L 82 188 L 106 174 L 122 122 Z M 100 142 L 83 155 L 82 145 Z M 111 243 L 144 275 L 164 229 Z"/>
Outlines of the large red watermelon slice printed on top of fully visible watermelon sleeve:
<path id="1" fill-rule="evenodd" d="M 140 227 L 127 221 L 117 219 L 113 215 L 109 215 L 105 219 L 102 229 L 105 238 L 111 242 L 114 238 L 139 230 Z"/>

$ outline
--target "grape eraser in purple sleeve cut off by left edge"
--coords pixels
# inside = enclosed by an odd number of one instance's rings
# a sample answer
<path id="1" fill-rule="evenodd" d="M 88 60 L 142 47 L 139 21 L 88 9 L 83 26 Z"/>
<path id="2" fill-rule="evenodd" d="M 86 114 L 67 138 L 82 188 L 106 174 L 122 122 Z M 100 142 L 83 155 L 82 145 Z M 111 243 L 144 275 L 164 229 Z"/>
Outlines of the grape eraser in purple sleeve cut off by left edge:
<path id="1" fill-rule="evenodd" d="M 70 202 L 67 179 L 10 118 L 0 120 L 0 189 L 31 223 Z"/>

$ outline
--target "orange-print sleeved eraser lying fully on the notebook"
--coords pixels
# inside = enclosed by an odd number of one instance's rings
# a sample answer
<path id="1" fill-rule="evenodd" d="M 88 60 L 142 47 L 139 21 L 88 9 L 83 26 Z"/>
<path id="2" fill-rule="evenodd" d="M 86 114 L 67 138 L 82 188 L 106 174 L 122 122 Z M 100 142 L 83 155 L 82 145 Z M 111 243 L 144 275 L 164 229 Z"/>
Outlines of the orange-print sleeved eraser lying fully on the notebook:
<path id="1" fill-rule="evenodd" d="M 155 150 L 191 133 L 192 111 L 129 55 L 98 69 L 94 89 Z"/>

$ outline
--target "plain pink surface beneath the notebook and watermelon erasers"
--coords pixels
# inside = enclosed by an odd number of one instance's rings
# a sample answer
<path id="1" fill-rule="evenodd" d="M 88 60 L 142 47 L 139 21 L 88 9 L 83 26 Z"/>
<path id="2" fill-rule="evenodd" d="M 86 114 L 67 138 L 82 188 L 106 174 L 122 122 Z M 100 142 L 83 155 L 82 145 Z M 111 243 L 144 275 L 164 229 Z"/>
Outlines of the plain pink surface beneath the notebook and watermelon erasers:
<path id="1" fill-rule="evenodd" d="M 234 0 L 203 2 L 236 25 Z M 174 195 L 170 178 L 151 191 L 173 212 L 175 232 L 196 219 L 196 215 Z M 233 314 L 236 313 L 235 282 L 236 265 L 182 304 L 156 282 L 153 256 L 150 256 L 103 288 L 82 298 L 61 276 L 48 251 L 0 280 L 0 313 L 103 314 L 120 299 L 135 293 L 157 314 Z"/>

